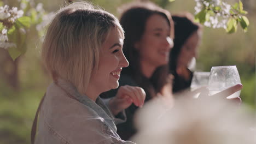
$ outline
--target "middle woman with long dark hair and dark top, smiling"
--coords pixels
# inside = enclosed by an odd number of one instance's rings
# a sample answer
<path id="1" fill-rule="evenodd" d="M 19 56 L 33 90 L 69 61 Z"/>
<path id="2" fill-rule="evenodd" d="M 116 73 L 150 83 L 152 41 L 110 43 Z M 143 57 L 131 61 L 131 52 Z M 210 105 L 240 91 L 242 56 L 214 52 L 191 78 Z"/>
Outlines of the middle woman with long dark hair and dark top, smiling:
<path id="1" fill-rule="evenodd" d="M 124 54 L 130 67 L 124 68 L 120 86 L 142 87 L 146 101 L 163 97 L 171 101 L 171 76 L 168 74 L 169 53 L 173 47 L 173 22 L 168 11 L 157 5 L 144 2 L 125 5 L 120 23 L 125 31 Z M 114 89 L 102 97 L 115 95 Z M 136 133 L 133 115 L 138 105 L 126 109 L 127 121 L 117 125 L 118 134 L 128 140 Z"/>

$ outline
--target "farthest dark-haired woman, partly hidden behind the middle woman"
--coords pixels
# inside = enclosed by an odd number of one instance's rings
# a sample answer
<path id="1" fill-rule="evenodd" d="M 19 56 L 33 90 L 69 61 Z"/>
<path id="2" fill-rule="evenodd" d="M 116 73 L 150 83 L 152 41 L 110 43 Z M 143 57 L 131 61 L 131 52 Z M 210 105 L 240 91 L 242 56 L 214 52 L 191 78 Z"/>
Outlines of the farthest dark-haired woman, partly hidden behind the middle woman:
<path id="1" fill-rule="evenodd" d="M 174 22 L 174 46 L 170 53 L 169 68 L 173 74 L 173 93 L 190 88 L 193 72 L 188 68 L 197 55 L 201 40 L 201 25 L 193 22 L 190 13 L 172 16 Z"/>

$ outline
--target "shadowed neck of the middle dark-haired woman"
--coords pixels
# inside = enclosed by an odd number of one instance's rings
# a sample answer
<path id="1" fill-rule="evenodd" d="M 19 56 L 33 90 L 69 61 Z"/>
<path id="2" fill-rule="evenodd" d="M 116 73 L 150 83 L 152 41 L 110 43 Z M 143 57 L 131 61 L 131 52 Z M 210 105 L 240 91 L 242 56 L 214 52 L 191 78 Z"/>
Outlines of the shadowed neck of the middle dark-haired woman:
<path id="1" fill-rule="evenodd" d="M 141 72 L 148 79 L 153 75 L 155 69 L 156 69 L 156 66 L 148 62 L 141 61 Z"/>

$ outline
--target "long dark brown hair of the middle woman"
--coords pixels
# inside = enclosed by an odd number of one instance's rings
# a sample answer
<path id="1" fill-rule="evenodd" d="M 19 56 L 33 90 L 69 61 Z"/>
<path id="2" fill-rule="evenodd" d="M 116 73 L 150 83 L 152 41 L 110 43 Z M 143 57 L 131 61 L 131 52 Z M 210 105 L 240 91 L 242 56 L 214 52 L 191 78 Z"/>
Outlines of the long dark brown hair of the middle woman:
<path id="1" fill-rule="evenodd" d="M 158 67 L 152 77 L 147 79 L 141 73 L 141 65 L 139 63 L 139 51 L 135 49 L 135 43 L 141 40 L 146 28 L 148 18 L 154 14 L 161 15 L 166 19 L 171 29 L 171 36 L 173 36 L 173 23 L 171 15 L 167 10 L 164 10 L 157 5 L 147 3 L 133 3 L 126 7 L 127 10 L 121 14 L 120 23 L 125 31 L 124 40 L 124 55 L 129 61 L 130 65 L 124 68 L 122 74 L 131 76 L 138 86 L 142 87 L 147 94 L 146 99 L 155 97 L 157 93 L 161 92 L 162 87 L 168 81 L 168 66 L 163 65 Z"/>

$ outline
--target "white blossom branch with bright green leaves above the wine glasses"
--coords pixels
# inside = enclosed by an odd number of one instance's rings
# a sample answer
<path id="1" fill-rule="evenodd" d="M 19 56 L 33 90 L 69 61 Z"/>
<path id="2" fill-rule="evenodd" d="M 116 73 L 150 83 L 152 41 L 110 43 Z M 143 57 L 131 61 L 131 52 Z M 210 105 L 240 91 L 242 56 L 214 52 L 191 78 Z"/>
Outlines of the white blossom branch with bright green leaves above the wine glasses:
<path id="1" fill-rule="evenodd" d="M 243 10 L 243 3 L 230 5 L 222 0 L 195 0 L 195 20 L 207 27 L 224 28 L 228 33 L 237 31 L 240 23 L 246 32 L 249 20 L 245 16 L 247 11 Z"/>

